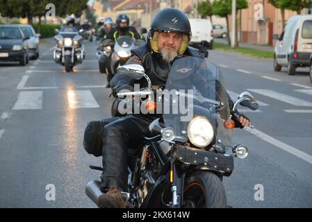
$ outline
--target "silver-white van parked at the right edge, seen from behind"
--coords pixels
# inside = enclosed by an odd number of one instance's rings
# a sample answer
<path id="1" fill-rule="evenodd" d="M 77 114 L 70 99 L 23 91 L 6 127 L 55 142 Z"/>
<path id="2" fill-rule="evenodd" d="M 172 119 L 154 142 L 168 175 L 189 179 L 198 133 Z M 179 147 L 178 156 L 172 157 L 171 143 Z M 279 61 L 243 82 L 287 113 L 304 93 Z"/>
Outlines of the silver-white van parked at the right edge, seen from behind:
<path id="1" fill-rule="evenodd" d="M 296 67 L 309 67 L 312 53 L 312 15 L 296 15 L 286 22 L 274 48 L 274 70 L 288 67 L 294 75 Z"/>

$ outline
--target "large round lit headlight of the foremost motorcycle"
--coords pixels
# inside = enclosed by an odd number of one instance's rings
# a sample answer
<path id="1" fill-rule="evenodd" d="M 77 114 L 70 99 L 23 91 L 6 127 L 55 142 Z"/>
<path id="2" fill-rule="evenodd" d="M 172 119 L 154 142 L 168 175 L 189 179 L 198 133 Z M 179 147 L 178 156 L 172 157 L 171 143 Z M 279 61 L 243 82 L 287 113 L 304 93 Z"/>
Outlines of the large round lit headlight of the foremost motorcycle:
<path id="1" fill-rule="evenodd" d="M 205 117 L 195 117 L 188 123 L 188 139 L 197 147 L 208 146 L 214 135 L 213 126 Z"/>

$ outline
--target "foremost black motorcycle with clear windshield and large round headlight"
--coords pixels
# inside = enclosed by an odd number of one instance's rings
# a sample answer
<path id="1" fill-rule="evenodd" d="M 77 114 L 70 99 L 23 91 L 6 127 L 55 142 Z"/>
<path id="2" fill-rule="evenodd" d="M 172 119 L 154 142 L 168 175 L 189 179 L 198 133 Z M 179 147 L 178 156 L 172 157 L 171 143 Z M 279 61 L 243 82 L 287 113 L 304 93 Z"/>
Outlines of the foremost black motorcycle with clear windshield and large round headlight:
<path id="1" fill-rule="evenodd" d="M 231 144 L 231 115 L 238 104 L 256 110 L 254 97 L 242 92 L 231 110 L 220 70 L 199 58 L 176 60 L 165 88 L 151 87 L 140 65 L 124 65 L 118 71 L 148 82 L 138 92 L 117 94 L 127 101 L 120 112 L 133 113 L 134 104 L 141 111 L 161 113 L 149 125 L 140 155 L 129 157 L 129 163 L 135 164 L 129 164 L 128 190 L 122 192 L 129 205 L 228 207 L 222 177 L 233 172 L 234 157 L 248 154 L 245 145 Z M 89 182 L 85 189 L 95 203 L 102 194 L 99 184 L 99 180 Z"/>

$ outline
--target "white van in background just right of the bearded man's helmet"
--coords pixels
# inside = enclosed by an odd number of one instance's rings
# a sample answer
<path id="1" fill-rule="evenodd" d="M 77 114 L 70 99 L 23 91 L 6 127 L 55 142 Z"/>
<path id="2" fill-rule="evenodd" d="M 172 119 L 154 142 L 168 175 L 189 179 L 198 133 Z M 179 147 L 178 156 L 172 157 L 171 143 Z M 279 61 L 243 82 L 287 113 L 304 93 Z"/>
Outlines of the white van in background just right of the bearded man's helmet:
<path id="1" fill-rule="evenodd" d="M 192 31 L 190 46 L 204 45 L 213 49 L 213 25 L 209 19 L 189 19 Z M 197 48 L 195 46 L 195 48 Z"/>

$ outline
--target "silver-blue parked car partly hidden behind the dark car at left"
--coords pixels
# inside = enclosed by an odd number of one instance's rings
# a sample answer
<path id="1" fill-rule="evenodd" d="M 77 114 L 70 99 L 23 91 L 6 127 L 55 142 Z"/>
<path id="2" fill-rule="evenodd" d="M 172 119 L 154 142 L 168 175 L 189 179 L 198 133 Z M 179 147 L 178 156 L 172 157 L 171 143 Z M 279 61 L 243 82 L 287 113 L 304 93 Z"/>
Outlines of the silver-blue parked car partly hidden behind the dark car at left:
<path id="1" fill-rule="evenodd" d="M 22 29 L 26 37 L 29 37 L 27 40 L 29 57 L 36 60 L 39 57 L 39 38 L 41 35 L 36 34 L 31 25 L 19 25 L 19 28 Z"/>

